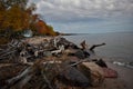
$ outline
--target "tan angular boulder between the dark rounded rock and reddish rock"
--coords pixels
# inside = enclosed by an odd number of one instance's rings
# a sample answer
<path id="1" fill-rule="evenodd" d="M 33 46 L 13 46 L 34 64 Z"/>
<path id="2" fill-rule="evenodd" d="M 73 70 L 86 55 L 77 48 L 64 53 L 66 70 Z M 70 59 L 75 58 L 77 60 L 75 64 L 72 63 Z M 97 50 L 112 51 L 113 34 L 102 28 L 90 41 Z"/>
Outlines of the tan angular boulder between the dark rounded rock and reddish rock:
<path id="1" fill-rule="evenodd" d="M 78 69 L 83 72 L 88 79 L 91 79 L 92 86 L 100 86 L 104 80 L 103 70 L 94 62 L 82 62 Z"/>

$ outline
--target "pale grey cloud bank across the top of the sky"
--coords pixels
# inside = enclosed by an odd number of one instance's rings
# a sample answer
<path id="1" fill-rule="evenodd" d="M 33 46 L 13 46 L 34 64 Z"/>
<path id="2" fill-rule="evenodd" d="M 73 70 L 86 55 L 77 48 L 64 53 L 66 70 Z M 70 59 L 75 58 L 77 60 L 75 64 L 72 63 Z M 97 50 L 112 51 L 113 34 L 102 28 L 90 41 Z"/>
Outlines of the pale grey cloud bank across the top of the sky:
<path id="1" fill-rule="evenodd" d="M 47 19 L 75 20 L 133 16 L 133 0 L 32 0 Z"/>

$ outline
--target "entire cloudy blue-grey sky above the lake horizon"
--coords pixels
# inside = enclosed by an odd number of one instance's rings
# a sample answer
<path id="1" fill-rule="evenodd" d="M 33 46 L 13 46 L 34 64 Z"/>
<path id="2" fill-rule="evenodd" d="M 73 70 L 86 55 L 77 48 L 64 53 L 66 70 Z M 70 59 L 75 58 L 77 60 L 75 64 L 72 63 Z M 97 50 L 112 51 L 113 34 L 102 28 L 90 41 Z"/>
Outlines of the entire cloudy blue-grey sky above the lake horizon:
<path id="1" fill-rule="evenodd" d="M 133 31 L 133 0 L 30 0 L 57 31 L 102 33 Z"/>

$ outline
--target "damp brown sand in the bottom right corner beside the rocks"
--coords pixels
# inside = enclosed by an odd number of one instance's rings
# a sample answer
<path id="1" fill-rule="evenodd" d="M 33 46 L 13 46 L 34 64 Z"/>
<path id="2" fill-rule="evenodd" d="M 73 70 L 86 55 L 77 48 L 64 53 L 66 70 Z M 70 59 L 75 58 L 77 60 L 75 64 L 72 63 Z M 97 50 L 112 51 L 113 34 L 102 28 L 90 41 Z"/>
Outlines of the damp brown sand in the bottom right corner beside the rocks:
<path id="1" fill-rule="evenodd" d="M 111 62 L 106 62 L 109 68 L 117 71 L 117 78 L 105 78 L 100 87 L 88 89 L 133 89 L 133 69 L 120 67 Z"/>

